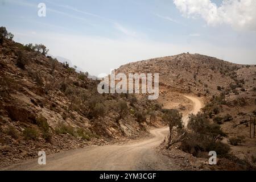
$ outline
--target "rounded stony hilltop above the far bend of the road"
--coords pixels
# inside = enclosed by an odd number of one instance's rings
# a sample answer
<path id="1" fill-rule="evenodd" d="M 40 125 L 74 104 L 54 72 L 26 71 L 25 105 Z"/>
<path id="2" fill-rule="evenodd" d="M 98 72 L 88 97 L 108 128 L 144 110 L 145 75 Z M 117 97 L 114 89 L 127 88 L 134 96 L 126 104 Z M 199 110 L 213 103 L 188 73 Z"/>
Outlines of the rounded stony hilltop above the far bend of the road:
<path id="1" fill-rule="evenodd" d="M 218 86 L 227 87 L 234 82 L 238 65 L 214 57 L 181 53 L 122 65 L 118 72 L 159 73 L 159 84 L 179 92 L 218 93 Z"/>

